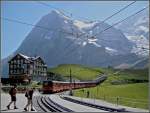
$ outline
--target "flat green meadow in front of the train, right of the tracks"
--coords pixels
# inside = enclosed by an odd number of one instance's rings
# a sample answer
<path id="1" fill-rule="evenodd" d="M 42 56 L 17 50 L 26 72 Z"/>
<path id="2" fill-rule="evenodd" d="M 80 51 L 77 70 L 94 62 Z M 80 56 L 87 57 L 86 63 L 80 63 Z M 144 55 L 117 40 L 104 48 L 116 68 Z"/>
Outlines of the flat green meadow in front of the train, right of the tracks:
<path id="1" fill-rule="evenodd" d="M 86 88 L 84 92 L 79 89 L 74 91 L 74 95 L 86 97 L 86 92 L 90 92 L 90 98 L 98 98 L 108 102 L 148 109 L 148 83 L 135 83 L 125 85 L 103 85 L 95 88 Z"/>

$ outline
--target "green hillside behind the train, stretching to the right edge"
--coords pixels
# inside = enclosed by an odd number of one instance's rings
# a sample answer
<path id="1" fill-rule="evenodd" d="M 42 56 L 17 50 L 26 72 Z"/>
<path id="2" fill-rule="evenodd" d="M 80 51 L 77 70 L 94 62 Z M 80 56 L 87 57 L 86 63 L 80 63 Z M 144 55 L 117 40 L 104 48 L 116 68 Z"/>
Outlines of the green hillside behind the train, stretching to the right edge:
<path id="1" fill-rule="evenodd" d="M 148 82 L 148 69 L 112 69 L 112 68 L 96 68 L 87 67 L 77 64 L 61 64 L 57 67 L 48 69 L 48 72 L 53 72 L 62 76 L 69 76 L 78 80 L 93 80 L 99 75 L 106 73 L 108 79 L 104 84 L 125 84 L 125 83 L 143 83 Z"/>

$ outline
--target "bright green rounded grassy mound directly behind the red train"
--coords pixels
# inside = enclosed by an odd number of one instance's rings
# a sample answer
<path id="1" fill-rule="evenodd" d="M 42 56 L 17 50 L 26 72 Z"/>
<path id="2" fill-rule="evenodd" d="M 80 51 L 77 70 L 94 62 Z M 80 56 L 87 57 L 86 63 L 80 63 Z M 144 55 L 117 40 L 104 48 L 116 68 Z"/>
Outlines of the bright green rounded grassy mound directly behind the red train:
<path id="1" fill-rule="evenodd" d="M 59 65 L 58 67 L 51 68 L 48 71 L 61 74 L 63 76 L 69 76 L 70 69 L 72 76 L 79 80 L 92 80 L 102 73 L 100 70 L 75 64 Z"/>

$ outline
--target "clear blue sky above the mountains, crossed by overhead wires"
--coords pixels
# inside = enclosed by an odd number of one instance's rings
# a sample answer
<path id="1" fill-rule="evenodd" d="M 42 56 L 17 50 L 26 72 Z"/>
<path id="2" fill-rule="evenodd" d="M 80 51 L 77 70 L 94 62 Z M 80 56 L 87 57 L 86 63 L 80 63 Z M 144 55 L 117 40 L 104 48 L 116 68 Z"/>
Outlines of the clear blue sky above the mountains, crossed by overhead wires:
<path id="1" fill-rule="evenodd" d="M 104 20 L 117 10 L 133 1 L 50 1 L 45 2 L 52 7 L 72 13 L 74 19 L 79 20 Z M 123 12 L 107 21 L 109 24 L 116 23 L 136 11 L 148 6 L 148 1 L 137 1 Z M 1 16 L 16 19 L 27 23 L 36 24 L 40 18 L 51 10 L 52 7 L 43 6 L 36 1 L 5 1 L 2 2 Z M 66 13 L 69 15 L 69 13 Z M 1 20 L 1 57 L 5 58 L 13 53 L 33 28 L 19 23 Z"/>

